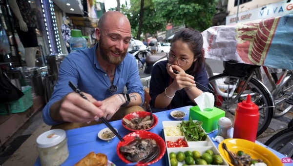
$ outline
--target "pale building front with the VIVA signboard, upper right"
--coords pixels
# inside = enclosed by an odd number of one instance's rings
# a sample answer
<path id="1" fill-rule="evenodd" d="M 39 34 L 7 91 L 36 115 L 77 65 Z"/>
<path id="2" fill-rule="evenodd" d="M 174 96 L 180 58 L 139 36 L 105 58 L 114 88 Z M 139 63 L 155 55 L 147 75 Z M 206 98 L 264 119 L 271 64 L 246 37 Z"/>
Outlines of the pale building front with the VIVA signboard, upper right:
<path id="1" fill-rule="evenodd" d="M 237 22 L 266 19 L 293 14 L 293 0 L 240 0 L 237 16 L 237 0 L 229 0 L 226 25 Z"/>

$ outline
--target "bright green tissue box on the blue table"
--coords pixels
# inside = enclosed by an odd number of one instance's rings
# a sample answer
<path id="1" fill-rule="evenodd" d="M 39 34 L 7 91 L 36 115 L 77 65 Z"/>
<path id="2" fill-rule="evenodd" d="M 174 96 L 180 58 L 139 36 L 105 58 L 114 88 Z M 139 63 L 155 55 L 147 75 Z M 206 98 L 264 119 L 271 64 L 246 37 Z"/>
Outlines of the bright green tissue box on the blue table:
<path id="1" fill-rule="evenodd" d="M 213 107 L 212 110 L 209 111 L 201 111 L 199 106 L 193 106 L 189 109 L 189 118 L 188 119 L 202 121 L 203 122 L 203 129 L 206 133 L 210 133 L 216 129 L 218 129 L 218 121 L 220 118 L 225 117 L 225 111 Z"/>

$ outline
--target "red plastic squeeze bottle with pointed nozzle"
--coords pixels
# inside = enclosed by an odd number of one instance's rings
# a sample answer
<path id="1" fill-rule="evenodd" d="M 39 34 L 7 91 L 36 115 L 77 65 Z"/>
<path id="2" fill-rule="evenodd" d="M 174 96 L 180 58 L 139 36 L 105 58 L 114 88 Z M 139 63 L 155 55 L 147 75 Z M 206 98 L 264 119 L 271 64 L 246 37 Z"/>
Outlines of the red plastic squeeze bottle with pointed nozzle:
<path id="1" fill-rule="evenodd" d="M 258 106 L 251 102 L 251 95 L 246 101 L 238 103 L 235 111 L 233 138 L 249 140 L 255 143 L 258 128 Z"/>

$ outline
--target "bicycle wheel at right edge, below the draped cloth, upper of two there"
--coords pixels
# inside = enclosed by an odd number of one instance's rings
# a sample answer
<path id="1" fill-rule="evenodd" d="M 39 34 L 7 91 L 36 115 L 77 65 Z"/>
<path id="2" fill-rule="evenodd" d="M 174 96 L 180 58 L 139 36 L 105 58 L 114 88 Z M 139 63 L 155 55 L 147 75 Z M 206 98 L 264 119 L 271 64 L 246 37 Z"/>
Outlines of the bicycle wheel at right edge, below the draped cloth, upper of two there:
<path id="1" fill-rule="evenodd" d="M 274 118 L 279 118 L 285 115 L 292 109 L 292 98 L 293 98 L 293 77 L 291 77 L 287 83 L 284 83 L 282 87 L 280 87 L 280 91 L 275 97 L 275 114 Z M 293 117 L 289 117 L 293 118 Z"/>

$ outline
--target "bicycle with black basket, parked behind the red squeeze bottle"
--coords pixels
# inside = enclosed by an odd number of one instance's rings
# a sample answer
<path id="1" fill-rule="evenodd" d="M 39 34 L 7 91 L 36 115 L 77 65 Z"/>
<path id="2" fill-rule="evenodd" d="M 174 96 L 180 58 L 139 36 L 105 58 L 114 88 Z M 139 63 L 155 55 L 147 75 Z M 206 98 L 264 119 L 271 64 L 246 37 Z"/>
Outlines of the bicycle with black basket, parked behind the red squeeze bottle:
<path id="1" fill-rule="evenodd" d="M 251 95 L 251 101 L 259 106 L 260 112 L 257 136 L 269 127 L 275 107 L 271 92 L 260 80 L 260 66 L 233 62 L 226 63 L 222 74 L 209 78 L 215 106 L 224 110 L 232 123 L 237 104 L 245 101 L 248 94 Z"/>

